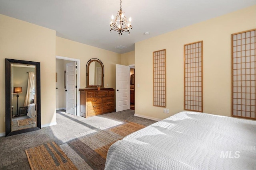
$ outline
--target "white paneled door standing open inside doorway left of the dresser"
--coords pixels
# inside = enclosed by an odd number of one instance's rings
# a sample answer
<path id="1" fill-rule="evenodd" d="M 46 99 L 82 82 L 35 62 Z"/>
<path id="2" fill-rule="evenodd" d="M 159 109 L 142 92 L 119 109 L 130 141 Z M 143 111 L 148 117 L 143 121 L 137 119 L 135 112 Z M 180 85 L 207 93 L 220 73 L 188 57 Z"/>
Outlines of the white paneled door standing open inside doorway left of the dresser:
<path id="1" fill-rule="evenodd" d="M 76 115 L 76 62 L 66 64 L 66 113 Z"/>

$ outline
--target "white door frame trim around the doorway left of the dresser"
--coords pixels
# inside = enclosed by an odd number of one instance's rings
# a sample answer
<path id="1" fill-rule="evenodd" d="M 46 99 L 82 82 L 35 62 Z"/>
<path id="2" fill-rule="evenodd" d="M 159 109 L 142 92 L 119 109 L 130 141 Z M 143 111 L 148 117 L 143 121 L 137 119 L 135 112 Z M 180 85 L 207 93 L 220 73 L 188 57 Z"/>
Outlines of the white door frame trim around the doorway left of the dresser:
<path id="1" fill-rule="evenodd" d="M 58 56 L 56 55 L 56 59 L 62 59 L 62 60 L 68 60 L 68 61 L 76 61 L 77 62 L 77 88 L 76 88 L 76 115 L 80 116 L 80 93 L 79 93 L 79 88 L 80 88 L 80 59 L 73 59 L 69 57 L 63 57 L 63 56 Z M 56 108 L 55 108 L 56 109 Z"/>

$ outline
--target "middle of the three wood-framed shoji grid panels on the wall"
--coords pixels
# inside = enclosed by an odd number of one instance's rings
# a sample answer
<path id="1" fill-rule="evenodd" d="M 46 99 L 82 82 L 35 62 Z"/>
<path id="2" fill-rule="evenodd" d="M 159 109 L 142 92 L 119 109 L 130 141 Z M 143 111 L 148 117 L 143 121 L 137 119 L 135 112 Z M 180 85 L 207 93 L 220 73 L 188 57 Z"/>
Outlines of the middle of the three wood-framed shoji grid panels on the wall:
<path id="1" fill-rule="evenodd" d="M 203 41 L 184 45 L 184 109 L 203 112 Z"/>

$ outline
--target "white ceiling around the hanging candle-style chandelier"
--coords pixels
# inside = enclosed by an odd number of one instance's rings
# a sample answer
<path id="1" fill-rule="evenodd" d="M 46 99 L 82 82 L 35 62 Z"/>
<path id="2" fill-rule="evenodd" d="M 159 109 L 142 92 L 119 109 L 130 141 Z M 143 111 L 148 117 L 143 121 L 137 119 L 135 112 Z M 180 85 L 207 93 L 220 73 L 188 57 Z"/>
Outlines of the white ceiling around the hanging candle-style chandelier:
<path id="1" fill-rule="evenodd" d="M 136 42 L 256 4 L 256 0 L 123 0 L 130 35 L 110 33 L 118 0 L 0 0 L 0 14 L 56 30 L 56 36 L 116 53 Z M 144 35 L 149 32 L 149 35 Z M 127 48 L 117 49 L 117 46 Z"/>

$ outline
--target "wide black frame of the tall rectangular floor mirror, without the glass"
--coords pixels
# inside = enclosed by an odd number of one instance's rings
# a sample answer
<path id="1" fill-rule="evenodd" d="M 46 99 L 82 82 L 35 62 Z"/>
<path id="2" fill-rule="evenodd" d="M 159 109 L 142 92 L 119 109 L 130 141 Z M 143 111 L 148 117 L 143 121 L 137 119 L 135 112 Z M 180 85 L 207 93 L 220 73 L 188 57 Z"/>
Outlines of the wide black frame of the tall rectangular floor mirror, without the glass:
<path id="1" fill-rule="evenodd" d="M 36 127 L 11 131 L 11 64 L 29 64 L 36 66 Z M 23 61 L 14 59 L 5 59 L 5 136 L 17 135 L 29 131 L 41 129 L 41 92 L 40 92 L 40 63 L 34 61 Z"/>

